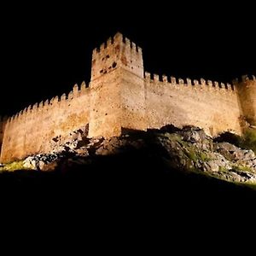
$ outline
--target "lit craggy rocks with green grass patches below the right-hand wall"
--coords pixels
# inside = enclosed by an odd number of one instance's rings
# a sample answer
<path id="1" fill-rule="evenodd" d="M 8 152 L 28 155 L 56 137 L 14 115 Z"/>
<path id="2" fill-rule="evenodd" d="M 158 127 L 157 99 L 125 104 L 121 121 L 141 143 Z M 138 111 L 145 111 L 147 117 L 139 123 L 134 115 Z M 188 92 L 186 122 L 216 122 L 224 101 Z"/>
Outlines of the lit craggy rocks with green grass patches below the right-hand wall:
<path id="1" fill-rule="evenodd" d="M 230 143 L 213 143 L 200 129 L 189 128 L 157 137 L 168 151 L 171 166 L 204 172 L 232 182 L 256 183 L 256 156 Z"/>

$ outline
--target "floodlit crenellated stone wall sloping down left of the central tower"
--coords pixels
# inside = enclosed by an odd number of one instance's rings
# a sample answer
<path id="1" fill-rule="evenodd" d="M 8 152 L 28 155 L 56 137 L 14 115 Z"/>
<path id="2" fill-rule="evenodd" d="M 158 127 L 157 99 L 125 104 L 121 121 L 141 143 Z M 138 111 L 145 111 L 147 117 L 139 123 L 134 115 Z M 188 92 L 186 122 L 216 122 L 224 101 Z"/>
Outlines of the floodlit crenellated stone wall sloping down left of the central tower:
<path id="1" fill-rule="evenodd" d="M 55 141 L 89 124 L 90 90 L 75 85 L 68 96 L 35 104 L 10 118 L 5 126 L 1 162 L 48 153 Z"/>

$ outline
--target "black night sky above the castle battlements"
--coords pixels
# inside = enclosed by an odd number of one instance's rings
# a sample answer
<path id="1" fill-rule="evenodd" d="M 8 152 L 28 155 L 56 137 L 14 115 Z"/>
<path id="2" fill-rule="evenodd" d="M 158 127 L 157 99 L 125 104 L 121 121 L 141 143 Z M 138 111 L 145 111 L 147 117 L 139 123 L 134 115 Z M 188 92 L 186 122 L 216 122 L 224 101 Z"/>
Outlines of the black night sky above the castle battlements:
<path id="1" fill-rule="evenodd" d="M 113 12 L 61 8 L 12 13 L 12 22 L 2 20 L 0 114 L 88 83 L 92 49 L 117 31 L 143 48 L 144 67 L 152 73 L 224 82 L 256 73 L 250 7 L 244 17 L 241 7 L 231 11 L 210 3 L 197 10 L 185 5 Z"/>

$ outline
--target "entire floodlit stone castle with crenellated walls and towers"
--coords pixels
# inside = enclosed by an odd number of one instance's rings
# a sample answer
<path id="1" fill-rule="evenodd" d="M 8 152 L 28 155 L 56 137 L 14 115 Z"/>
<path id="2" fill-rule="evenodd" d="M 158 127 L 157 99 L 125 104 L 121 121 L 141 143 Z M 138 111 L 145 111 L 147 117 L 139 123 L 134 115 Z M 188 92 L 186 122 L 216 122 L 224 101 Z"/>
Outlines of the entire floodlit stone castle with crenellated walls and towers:
<path id="1" fill-rule="evenodd" d="M 256 79 L 233 84 L 144 73 L 143 52 L 117 33 L 92 53 L 91 79 L 66 96 L 0 119 L 0 162 L 49 153 L 73 131 L 115 137 L 126 130 L 195 125 L 213 136 L 256 125 Z M 88 133 L 87 133 L 88 132 Z"/>

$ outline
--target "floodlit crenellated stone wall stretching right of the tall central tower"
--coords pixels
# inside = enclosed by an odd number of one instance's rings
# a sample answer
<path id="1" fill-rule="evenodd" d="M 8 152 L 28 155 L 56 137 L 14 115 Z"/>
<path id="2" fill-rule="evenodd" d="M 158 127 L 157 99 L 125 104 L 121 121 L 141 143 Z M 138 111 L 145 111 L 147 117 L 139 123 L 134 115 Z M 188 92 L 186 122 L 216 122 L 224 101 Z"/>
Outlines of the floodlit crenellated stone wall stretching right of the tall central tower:
<path id="1" fill-rule="evenodd" d="M 152 78 L 151 78 L 152 77 Z M 241 111 L 231 84 L 190 79 L 167 79 L 146 73 L 148 128 L 172 124 L 195 125 L 216 136 L 222 131 L 241 134 Z"/>

